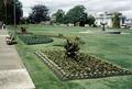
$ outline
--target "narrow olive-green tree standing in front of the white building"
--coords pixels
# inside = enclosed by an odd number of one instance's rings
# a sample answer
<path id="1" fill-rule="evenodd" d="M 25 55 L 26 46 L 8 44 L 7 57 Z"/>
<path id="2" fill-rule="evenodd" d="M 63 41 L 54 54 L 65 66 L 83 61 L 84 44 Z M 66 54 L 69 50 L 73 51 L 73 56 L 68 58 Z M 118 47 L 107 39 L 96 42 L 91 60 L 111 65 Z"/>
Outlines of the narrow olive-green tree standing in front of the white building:
<path id="1" fill-rule="evenodd" d="M 120 13 L 118 13 L 118 12 L 113 13 L 112 26 L 120 27 Z"/>

